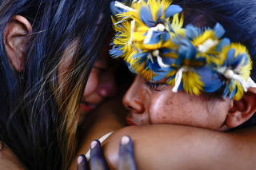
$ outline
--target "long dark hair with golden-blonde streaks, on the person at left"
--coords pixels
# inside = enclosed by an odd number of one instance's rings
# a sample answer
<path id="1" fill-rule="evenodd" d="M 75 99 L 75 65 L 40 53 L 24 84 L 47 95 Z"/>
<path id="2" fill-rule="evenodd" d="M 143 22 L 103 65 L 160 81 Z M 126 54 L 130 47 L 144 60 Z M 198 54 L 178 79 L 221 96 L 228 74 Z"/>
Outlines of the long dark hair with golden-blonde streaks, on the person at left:
<path id="1" fill-rule="evenodd" d="M 110 31 L 109 3 L 0 0 L 0 140 L 27 169 L 66 169 L 74 159 L 79 102 Z M 3 38 L 14 15 L 33 29 L 22 73 L 12 69 Z M 58 85 L 58 65 L 69 55 L 72 63 Z"/>

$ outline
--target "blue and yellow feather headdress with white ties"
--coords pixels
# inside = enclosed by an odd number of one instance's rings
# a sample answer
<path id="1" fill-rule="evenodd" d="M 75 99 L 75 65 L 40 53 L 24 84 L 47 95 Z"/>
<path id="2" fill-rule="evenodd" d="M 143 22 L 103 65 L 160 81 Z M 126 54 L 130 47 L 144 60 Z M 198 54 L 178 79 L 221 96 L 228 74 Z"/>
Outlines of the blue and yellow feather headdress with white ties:
<path id="1" fill-rule="evenodd" d="M 183 26 L 182 8 L 169 0 L 114 2 L 116 35 L 110 54 L 150 81 L 165 78 L 173 91 L 200 95 L 224 89 L 240 100 L 251 86 L 252 61 L 246 46 L 222 38 L 224 28 Z"/>

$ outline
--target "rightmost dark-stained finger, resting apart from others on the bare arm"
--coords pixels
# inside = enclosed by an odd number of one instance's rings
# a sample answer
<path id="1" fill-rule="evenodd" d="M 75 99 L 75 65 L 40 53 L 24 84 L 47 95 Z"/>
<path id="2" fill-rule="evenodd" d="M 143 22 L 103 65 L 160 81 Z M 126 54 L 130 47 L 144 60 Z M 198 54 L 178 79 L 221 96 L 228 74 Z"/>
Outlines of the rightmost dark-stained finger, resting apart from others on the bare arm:
<path id="1" fill-rule="evenodd" d="M 118 170 L 136 170 L 134 147 L 130 136 L 122 136 L 119 147 Z"/>

